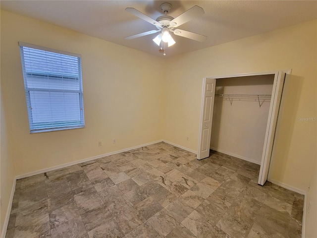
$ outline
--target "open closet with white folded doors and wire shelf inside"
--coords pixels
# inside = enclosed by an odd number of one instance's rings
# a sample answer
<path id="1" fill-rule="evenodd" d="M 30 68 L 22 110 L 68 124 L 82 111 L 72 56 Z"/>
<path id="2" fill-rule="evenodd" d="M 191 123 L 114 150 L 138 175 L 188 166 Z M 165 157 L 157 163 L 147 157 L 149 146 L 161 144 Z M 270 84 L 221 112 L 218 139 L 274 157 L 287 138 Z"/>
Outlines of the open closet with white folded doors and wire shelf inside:
<path id="1" fill-rule="evenodd" d="M 208 157 L 212 149 L 259 164 L 258 183 L 263 185 L 285 75 L 276 71 L 204 78 L 197 159 Z"/>

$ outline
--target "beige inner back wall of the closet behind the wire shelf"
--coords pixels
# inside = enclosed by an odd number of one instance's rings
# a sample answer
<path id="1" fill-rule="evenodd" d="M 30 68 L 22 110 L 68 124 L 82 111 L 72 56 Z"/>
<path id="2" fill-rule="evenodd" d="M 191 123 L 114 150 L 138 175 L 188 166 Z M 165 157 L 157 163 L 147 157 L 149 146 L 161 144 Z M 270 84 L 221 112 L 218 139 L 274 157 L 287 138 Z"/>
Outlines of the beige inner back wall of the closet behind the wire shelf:
<path id="1" fill-rule="evenodd" d="M 215 94 L 272 94 L 274 74 L 216 80 Z M 230 100 L 232 100 L 230 103 Z M 270 98 L 214 98 L 211 149 L 261 164 Z"/>

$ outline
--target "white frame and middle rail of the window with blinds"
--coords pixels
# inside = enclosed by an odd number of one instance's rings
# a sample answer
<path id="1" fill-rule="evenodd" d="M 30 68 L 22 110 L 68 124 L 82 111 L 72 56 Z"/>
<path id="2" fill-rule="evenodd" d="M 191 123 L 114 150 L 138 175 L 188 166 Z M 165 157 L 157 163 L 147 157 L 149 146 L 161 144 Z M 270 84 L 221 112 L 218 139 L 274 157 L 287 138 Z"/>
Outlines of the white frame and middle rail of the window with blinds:
<path id="1" fill-rule="evenodd" d="M 71 90 L 71 89 L 49 89 L 49 88 L 29 88 L 27 85 L 27 77 L 29 75 L 28 72 L 25 69 L 25 58 L 24 58 L 24 49 L 23 47 L 32 48 L 36 50 L 42 50 L 46 52 L 52 52 L 56 54 L 61 54 L 65 56 L 72 56 L 76 57 L 78 60 L 78 84 L 79 84 L 79 90 Z M 60 130 L 71 130 L 71 129 L 79 129 L 79 128 L 85 128 L 85 115 L 84 115 L 84 96 L 83 96 L 83 84 L 82 84 L 82 70 L 81 70 L 81 55 L 70 53 L 70 52 L 64 52 L 59 50 L 54 50 L 42 46 L 32 45 L 28 43 L 19 42 L 19 48 L 20 48 L 20 55 L 21 55 L 21 64 L 22 64 L 22 73 L 23 73 L 23 81 L 24 81 L 24 89 L 25 89 L 25 96 L 26 96 L 26 104 L 27 104 L 27 110 L 28 110 L 28 120 L 29 120 L 29 128 L 30 133 L 42 133 L 42 132 L 50 132 L 50 131 L 60 131 Z M 34 74 L 34 72 L 32 72 Z M 54 78 L 56 77 L 56 80 L 58 80 L 58 76 L 62 76 L 62 73 L 58 75 L 58 73 L 52 73 L 48 71 L 39 71 L 38 74 L 43 74 L 45 77 Z M 51 76 L 51 77 L 50 77 Z M 65 79 L 65 78 L 62 78 Z M 67 78 L 66 78 L 67 79 Z M 70 79 L 71 80 L 71 76 Z M 77 80 L 77 75 L 76 75 Z M 73 126 L 48 126 L 46 128 L 34 128 L 34 123 L 32 121 L 32 106 L 31 106 L 31 95 L 30 92 L 57 92 L 57 93 L 75 93 L 79 95 L 79 110 L 80 110 L 80 125 L 73 125 Z M 51 122 L 53 123 L 53 122 Z M 56 122 L 58 123 L 58 122 Z M 64 121 L 64 123 L 67 123 L 67 121 Z"/>

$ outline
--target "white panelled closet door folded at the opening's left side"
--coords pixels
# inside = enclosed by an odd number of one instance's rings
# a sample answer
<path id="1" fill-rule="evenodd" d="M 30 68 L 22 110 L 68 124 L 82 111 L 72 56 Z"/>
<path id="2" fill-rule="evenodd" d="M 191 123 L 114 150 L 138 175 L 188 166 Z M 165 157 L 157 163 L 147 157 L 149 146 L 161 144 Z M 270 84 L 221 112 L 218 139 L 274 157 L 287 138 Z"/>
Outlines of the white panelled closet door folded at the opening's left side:
<path id="1" fill-rule="evenodd" d="M 204 78 L 202 118 L 200 121 L 199 148 L 197 153 L 197 159 L 199 160 L 209 157 L 215 87 L 215 79 Z"/>

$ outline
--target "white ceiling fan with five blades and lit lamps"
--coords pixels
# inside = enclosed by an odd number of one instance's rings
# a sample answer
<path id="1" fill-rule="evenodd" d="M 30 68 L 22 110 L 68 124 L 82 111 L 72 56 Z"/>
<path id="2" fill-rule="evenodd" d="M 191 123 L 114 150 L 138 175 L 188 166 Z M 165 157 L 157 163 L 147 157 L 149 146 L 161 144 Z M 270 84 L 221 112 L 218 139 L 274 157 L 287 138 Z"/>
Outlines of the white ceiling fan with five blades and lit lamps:
<path id="1" fill-rule="evenodd" d="M 204 40 L 207 39 L 207 36 L 193 33 L 190 31 L 181 30 L 181 29 L 177 28 L 180 25 L 190 21 L 191 19 L 193 19 L 195 17 L 202 16 L 205 13 L 203 8 L 195 5 L 192 8 L 185 11 L 184 13 L 177 16 L 176 18 L 174 18 L 172 16 L 167 15 L 167 13 L 170 11 L 171 7 L 172 7 L 172 5 L 170 3 L 167 3 L 167 2 L 162 3 L 160 5 L 160 8 L 163 11 L 164 15 L 159 16 L 156 20 L 152 19 L 151 17 L 145 15 L 144 13 L 138 11 L 137 9 L 135 9 L 133 7 L 125 8 L 126 11 L 128 11 L 128 12 L 132 13 L 133 15 L 155 25 L 158 28 L 157 30 L 142 32 L 142 33 L 139 33 L 136 35 L 128 36 L 125 39 L 135 39 L 135 38 L 138 38 L 141 36 L 147 36 L 147 35 L 151 35 L 151 34 L 160 32 L 159 35 L 153 39 L 153 41 L 158 46 L 161 46 L 161 42 L 167 43 L 168 47 L 175 44 L 174 39 L 170 35 L 170 32 L 174 33 L 174 35 L 176 35 L 176 36 L 182 36 L 182 37 L 189 38 L 189 39 L 199 41 L 199 42 L 203 42 Z"/>

